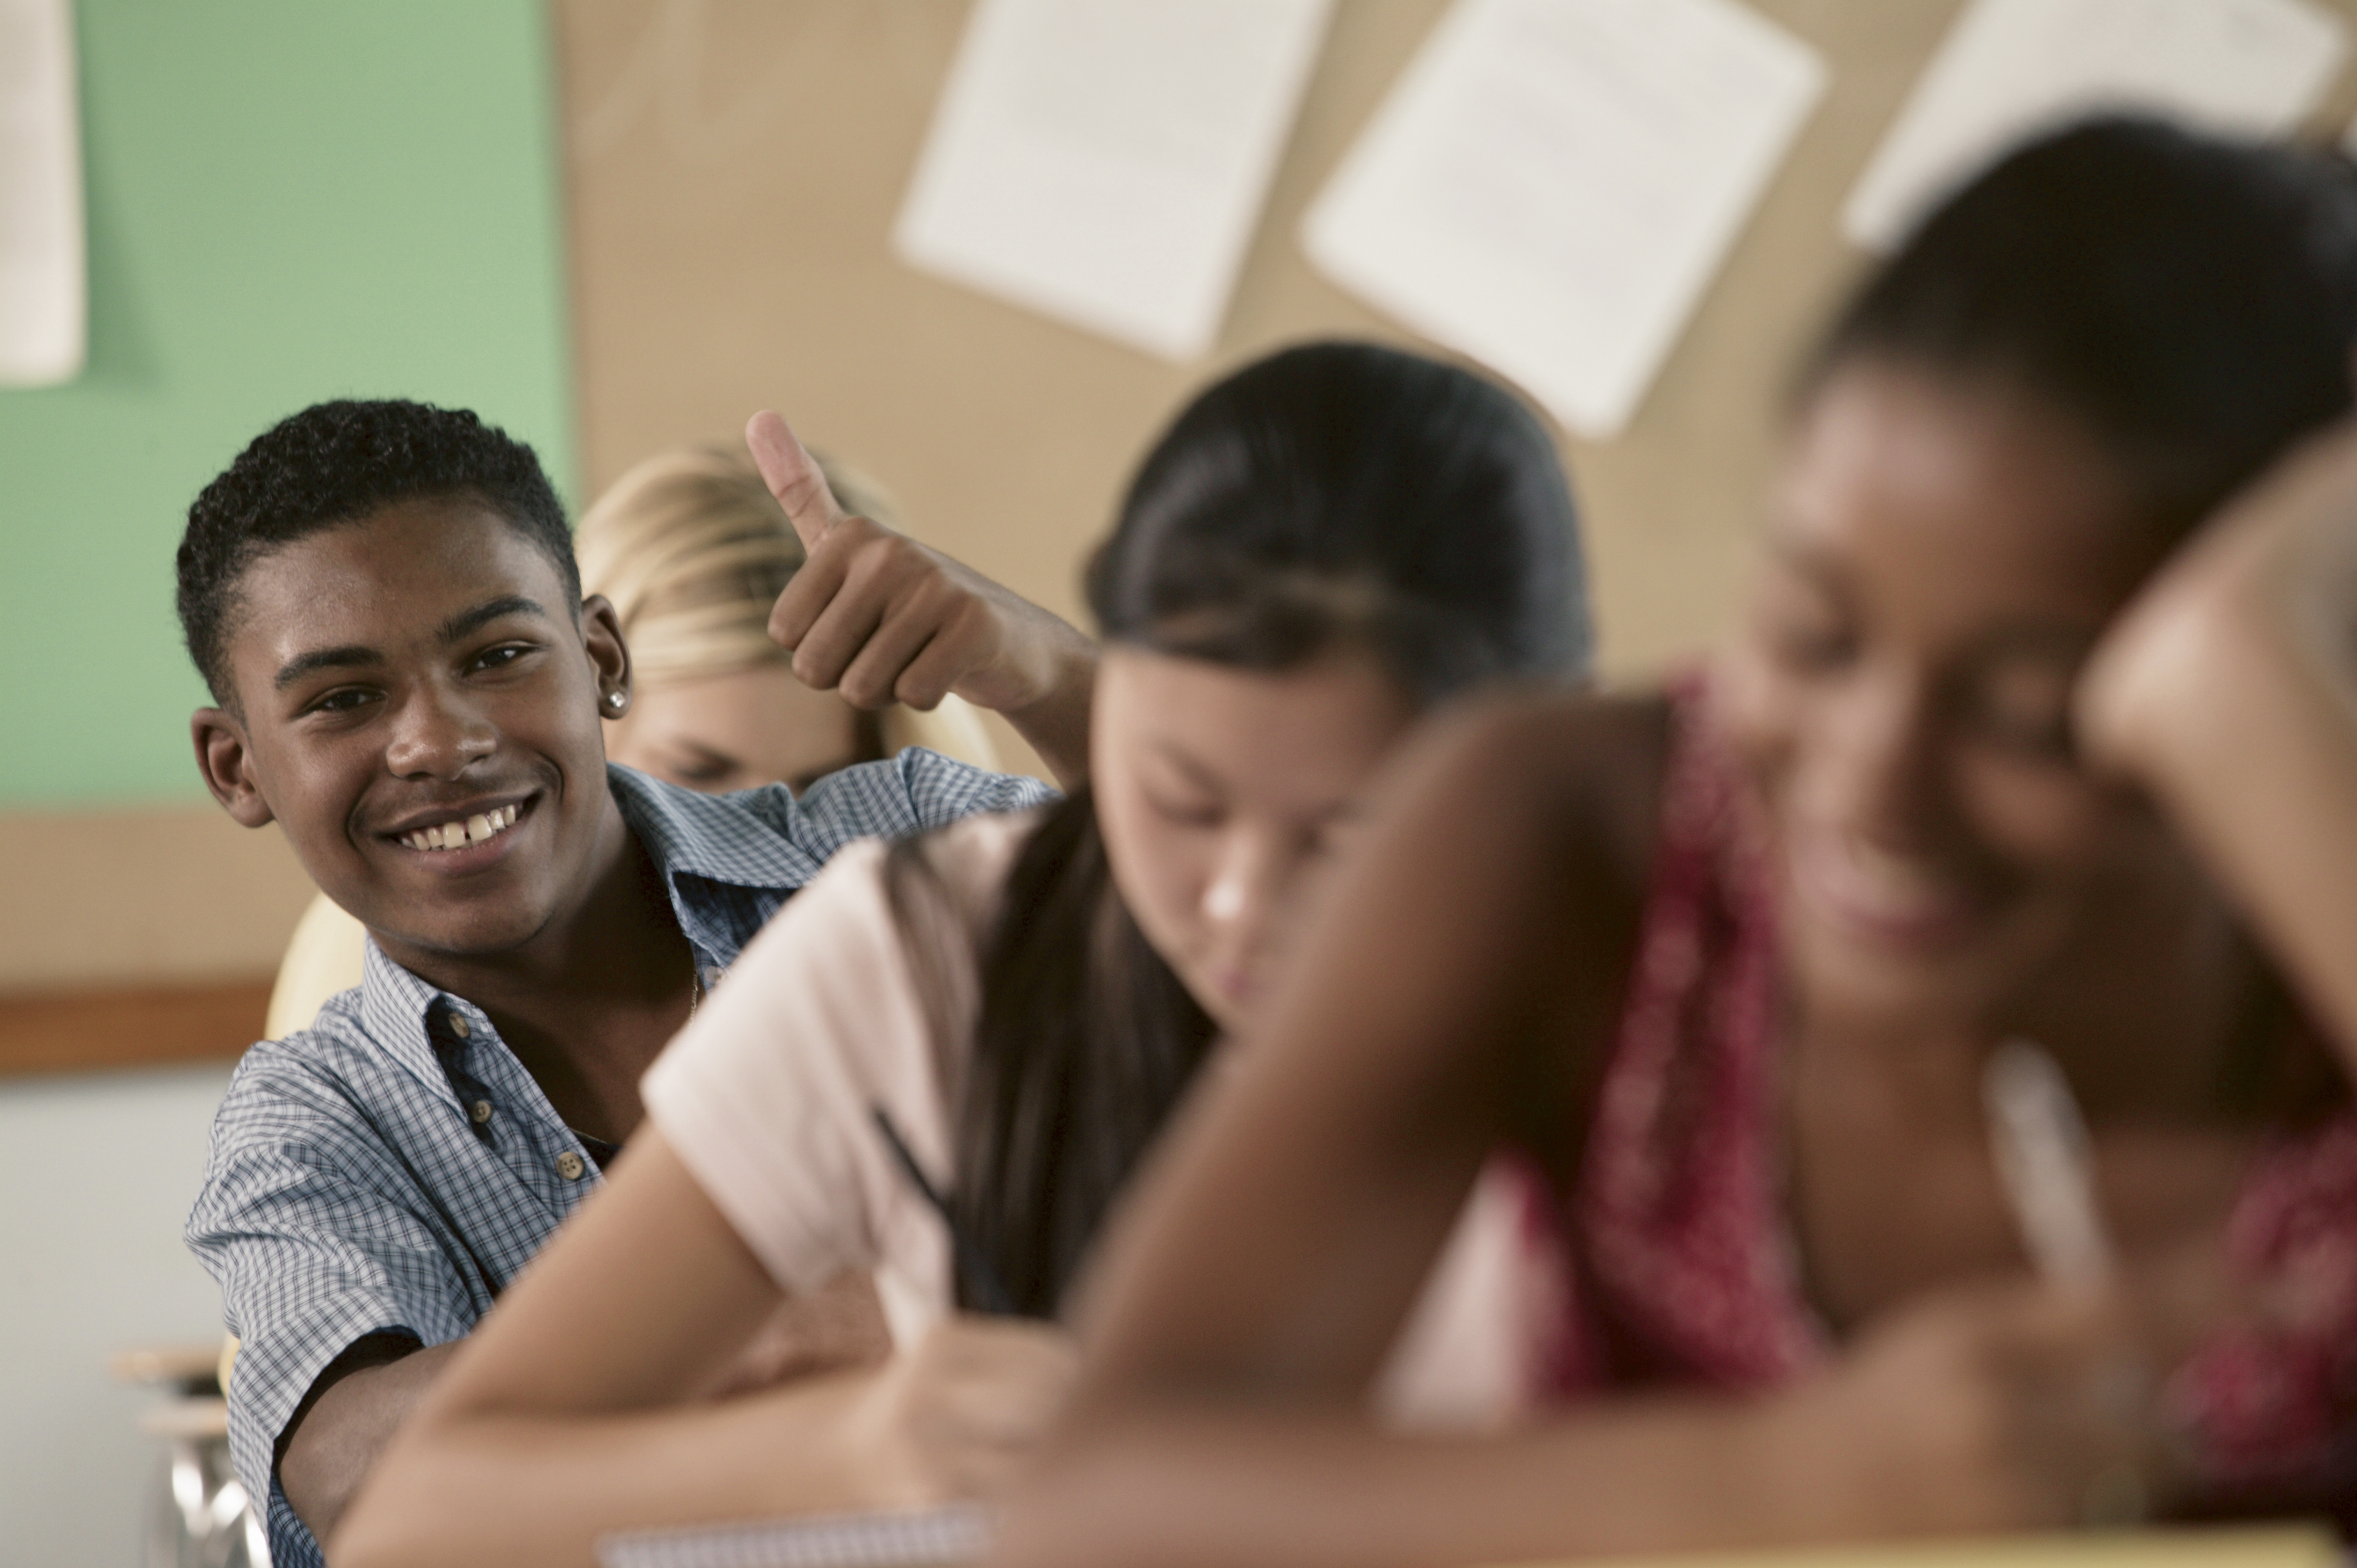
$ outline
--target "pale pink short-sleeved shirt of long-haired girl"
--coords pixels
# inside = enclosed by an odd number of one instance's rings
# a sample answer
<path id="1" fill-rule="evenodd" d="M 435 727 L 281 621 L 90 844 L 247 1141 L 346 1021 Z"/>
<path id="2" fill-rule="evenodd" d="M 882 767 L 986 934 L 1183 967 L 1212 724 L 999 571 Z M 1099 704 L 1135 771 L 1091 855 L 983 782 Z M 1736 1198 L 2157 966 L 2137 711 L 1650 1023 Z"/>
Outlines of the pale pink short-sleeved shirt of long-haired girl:
<path id="1" fill-rule="evenodd" d="M 806 1294 L 867 1271 L 900 1346 L 952 1311 L 950 1243 L 874 1111 L 945 1184 L 981 1002 L 973 953 L 1035 823 L 969 816 L 922 839 L 969 938 L 929 976 L 936 995 L 903 946 L 886 846 L 851 844 L 747 943 L 641 1082 L 648 1118 L 778 1285 Z M 1400 1424 L 1497 1427 L 1541 1389 L 1527 1346 L 1560 1294 L 1513 1170 L 1483 1177 L 1393 1349 L 1376 1408 Z"/>

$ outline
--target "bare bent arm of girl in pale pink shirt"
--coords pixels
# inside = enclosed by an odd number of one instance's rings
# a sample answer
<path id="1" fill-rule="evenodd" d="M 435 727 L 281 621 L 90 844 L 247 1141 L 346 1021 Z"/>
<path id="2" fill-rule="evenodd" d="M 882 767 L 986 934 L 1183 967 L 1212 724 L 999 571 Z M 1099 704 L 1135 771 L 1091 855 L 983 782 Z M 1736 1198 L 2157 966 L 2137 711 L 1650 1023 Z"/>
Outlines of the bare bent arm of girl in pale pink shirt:
<path id="1" fill-rule="evenodd" d="M 401 1431 L 330 1542 L 358 1563 L 594 1563 L 608 1530 L 997 1490 L 1061 1335 L 940 1325 L 882 1365 L 693 1403 L 780 1292 L 648 1125 Z"/>

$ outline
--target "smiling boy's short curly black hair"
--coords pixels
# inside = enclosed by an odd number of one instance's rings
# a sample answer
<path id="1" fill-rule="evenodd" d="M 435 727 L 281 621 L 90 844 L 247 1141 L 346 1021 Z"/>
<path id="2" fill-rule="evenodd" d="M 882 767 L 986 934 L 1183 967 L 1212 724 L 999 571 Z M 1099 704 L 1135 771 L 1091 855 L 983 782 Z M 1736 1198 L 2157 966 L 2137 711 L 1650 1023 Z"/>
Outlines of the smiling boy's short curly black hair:
<path id="1" fill-rule="evenodd" d="M 229 622 L 238 578 L 295 540 L 427 495 L 478 495 L 540 547 L 580 601 L 566 509 L 523 441 L 464 408 L 337 398 L 280 420 L 189 507 L 179 630 L 217 703 L 233 703 Z"/>

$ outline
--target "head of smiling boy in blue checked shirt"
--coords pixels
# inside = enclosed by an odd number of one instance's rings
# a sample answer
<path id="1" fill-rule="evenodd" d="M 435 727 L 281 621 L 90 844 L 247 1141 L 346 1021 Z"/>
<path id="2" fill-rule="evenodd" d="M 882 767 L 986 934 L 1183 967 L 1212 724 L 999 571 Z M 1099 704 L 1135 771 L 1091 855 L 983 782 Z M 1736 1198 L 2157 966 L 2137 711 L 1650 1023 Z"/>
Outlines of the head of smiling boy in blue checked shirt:
<path id="1" fill-rule="evenodd" d="M 316 403 L 189 507 L 179 620 L 214 799 L 276 821 L 379 938 L 504 953 L 585 896 L 629 653 L 533 448 L 464 410 Z"/>

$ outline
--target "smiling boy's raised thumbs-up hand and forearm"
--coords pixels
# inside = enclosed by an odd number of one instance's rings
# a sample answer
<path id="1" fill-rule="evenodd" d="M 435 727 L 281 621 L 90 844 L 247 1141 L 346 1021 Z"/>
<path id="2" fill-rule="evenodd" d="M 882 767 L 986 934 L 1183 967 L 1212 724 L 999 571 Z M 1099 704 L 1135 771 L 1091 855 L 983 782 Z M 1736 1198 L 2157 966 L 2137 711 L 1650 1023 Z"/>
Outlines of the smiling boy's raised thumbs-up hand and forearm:
<path id="1" fill-rule="evenodd" d="M 1087 637 L 938 549 L 844 514 L 775 413 L 752 417 L 745 446 L 808 554 L 768 615 L 768 637 L 794 655 L 801 684 L 853 707 L 929 710 L 957 693 L 1016 719 L 1058 776 L 1084 764 L 1096 667 Z M 1075 700 L 1080 752 L 1063 733 Z M 1028 717 L 1047 733 L 1035 736 Z"/>

